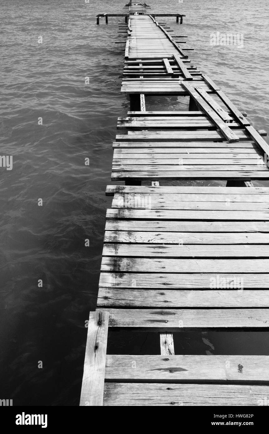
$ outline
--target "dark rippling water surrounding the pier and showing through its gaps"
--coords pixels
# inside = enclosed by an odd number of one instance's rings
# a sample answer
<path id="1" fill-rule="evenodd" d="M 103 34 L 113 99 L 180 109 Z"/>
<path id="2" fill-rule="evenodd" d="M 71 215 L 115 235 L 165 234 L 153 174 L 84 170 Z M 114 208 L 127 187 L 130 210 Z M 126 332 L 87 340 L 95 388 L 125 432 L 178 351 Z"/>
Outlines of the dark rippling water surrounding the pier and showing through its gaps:
<path id="1" fill-rule="evenodd" d="M 111 204 L 105 188 L 112 141 L 117 117 L 129 106 L 120 95 L 123 52 L 114 51 L 123 47 L 114 44 L 122 39 L 120 20 L 96 26 L 95 16 L 122 13 L 123 3 L 0 1 L 0 155 L 13 155 L 13 170 L 0 168 L 0 399 L 13 399 L 13 405 L 79 402 L 84 323 L 96 306 Z M 180 27 L 169 22 L 176 34 L 189 36 L 186 45 L 196 48 L 190 52 L 193 62 L 256 128 L 269 131 L 268 2 L 151 5 L 156 13 L 186 14 Z M 243 33 L 244 47 L 210 46 L 209 35 L 216 31 Z M 159 99 L 148 99 L 147 106 L 157 108 Z M 177 106 L 176 98 L 163 103 L 163 109 Z M 110 352 L 157 354 L 158 345 L 154 333 L 110 333 Z M 263 332 L 175 334 L 175 347 L 178 354 L 269 354 Z"/>

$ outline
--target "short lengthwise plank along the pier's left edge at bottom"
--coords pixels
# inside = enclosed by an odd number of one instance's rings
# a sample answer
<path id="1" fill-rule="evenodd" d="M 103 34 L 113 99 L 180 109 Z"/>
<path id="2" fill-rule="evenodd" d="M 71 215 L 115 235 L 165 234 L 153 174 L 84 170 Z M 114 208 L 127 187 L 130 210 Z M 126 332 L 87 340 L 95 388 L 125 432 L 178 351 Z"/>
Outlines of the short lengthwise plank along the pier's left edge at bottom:
<path id="1" fill-rule="evenodd" d="M 80 405 L 102 406 L 109 313 L 90 312 Z"/>

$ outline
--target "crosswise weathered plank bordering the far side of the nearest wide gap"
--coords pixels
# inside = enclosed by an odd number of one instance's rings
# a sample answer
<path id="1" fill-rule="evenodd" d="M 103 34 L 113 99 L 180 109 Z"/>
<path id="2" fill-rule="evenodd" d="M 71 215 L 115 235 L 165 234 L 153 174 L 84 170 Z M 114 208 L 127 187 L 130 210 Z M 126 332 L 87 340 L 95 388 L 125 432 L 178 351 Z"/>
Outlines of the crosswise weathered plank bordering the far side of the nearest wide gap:
<path id="1" fill-rule="evenodd" d="M 109 327 L 113 328 L 159 332 L 269 328 L 269 309 L 102 309 L 109 312 Z"/>

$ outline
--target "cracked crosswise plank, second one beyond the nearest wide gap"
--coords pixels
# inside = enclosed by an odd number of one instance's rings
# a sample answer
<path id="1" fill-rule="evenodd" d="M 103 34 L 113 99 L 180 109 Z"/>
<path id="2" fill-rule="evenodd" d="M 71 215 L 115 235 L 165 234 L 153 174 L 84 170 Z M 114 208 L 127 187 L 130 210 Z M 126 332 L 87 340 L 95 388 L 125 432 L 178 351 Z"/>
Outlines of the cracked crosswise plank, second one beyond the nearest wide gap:
<path id="1" fill-rule="evenodd" d="M 269 307 L 268 289 L 130 289 L 99 288 L 97 306 L 125 308 Z"/>

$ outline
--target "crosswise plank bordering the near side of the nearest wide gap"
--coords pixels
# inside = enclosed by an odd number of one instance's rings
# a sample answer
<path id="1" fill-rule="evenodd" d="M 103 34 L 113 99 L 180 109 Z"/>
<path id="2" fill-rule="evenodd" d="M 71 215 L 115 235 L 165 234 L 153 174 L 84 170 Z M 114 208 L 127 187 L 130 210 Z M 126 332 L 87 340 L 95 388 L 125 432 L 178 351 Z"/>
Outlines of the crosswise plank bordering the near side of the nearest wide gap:
<path id="1" fill-rule="evenodd" d="M 106 380 L 265 382 L 268 366 L 267 355 L 107 355 Z"/>

